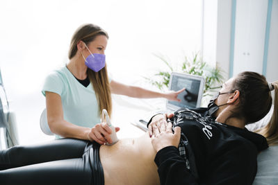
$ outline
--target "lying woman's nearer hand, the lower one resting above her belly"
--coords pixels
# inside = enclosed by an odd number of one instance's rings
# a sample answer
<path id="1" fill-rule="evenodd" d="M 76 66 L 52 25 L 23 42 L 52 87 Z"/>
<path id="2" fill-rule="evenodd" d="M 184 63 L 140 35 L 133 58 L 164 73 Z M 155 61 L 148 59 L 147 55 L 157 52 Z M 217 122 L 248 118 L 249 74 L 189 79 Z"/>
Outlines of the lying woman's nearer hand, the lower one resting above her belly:
<path id="1" fill-rule="evenodd" d="M 161 121 L 158 125 L 154 125 L 152 134 L 152 146 L 158 152 L 167 146 L 175 146 L 178 148 L 179 139 L 181 138 L 181 127 L 174 127 L 172 133 L 172 123 Z"/>

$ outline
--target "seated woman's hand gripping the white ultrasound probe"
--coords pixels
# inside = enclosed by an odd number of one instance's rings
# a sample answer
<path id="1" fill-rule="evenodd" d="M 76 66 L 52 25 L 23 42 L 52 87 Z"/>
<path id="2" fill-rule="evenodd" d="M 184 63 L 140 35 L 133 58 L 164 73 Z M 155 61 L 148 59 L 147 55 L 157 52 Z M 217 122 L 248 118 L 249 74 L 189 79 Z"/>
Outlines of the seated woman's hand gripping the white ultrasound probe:
<path id="1" fill-rule="evenodd" d="M 118 132 L 120 127 L 115 127 L 115 131 Z M 88 132 L 88 140 L 97 141 L 97 143 L 103 145 L 104 143 L 112 143 L 110 134 L 112 134 L 111 127 L 107 123 L 98 123 L 95 127 Z"/>

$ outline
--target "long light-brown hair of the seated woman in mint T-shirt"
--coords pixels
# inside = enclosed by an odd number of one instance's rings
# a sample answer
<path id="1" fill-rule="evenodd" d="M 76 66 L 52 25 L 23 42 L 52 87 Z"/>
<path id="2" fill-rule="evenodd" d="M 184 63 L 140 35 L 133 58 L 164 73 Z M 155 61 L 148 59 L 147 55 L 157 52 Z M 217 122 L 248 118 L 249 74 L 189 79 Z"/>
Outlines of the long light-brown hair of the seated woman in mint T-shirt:
<path id="1" fill-rule="evenodd" d="M 79 41 L 83 41 L 86 45 L 88 45 L 98 35 L 105 35 L 108 38 L 108 34 L 106 33 L 106 31 L 101 29 L 99 26 L 96 26 L 94 24 L 85 24 L 83 26 L 80 26 L 72 36 L 72 41 L 70 42 L 69 58 L 72 59 L 74 55 L 76 55 L 77 43 L 79 43 Z M 106 66 L 98 72 L 92 71 L 88 68 L 87 75 L 90 79 L 90 82 L 92 83 L 93 89 L 95 90 L 97 103 L 99 104 L 99 115 L 101 115 L 102 109 L 106 109 L 108 114 L 111 115 L 111 88 L 108 80 Z"/>

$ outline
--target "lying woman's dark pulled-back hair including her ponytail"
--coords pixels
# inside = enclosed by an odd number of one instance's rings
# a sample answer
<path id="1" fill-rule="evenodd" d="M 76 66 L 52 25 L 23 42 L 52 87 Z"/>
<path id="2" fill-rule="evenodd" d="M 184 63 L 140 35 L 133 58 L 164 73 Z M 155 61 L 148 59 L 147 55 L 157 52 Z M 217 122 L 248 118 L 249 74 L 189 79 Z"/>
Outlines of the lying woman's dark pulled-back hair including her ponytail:
<path id="1" fill-rule="evenodd" d="M 275 90 L 275 101 L 272 117 L 265 127 L 256 130 L 265 136 L 270 146 L 278 144 L 278 81 L 270 85 L 259 73 L 245 71 L 234 79 L 232 91 L 240 91 L 240 103 L 234 115 L 245 118 L 248 123 L 261 120 L 272 106 L 271 91 Z"/>

